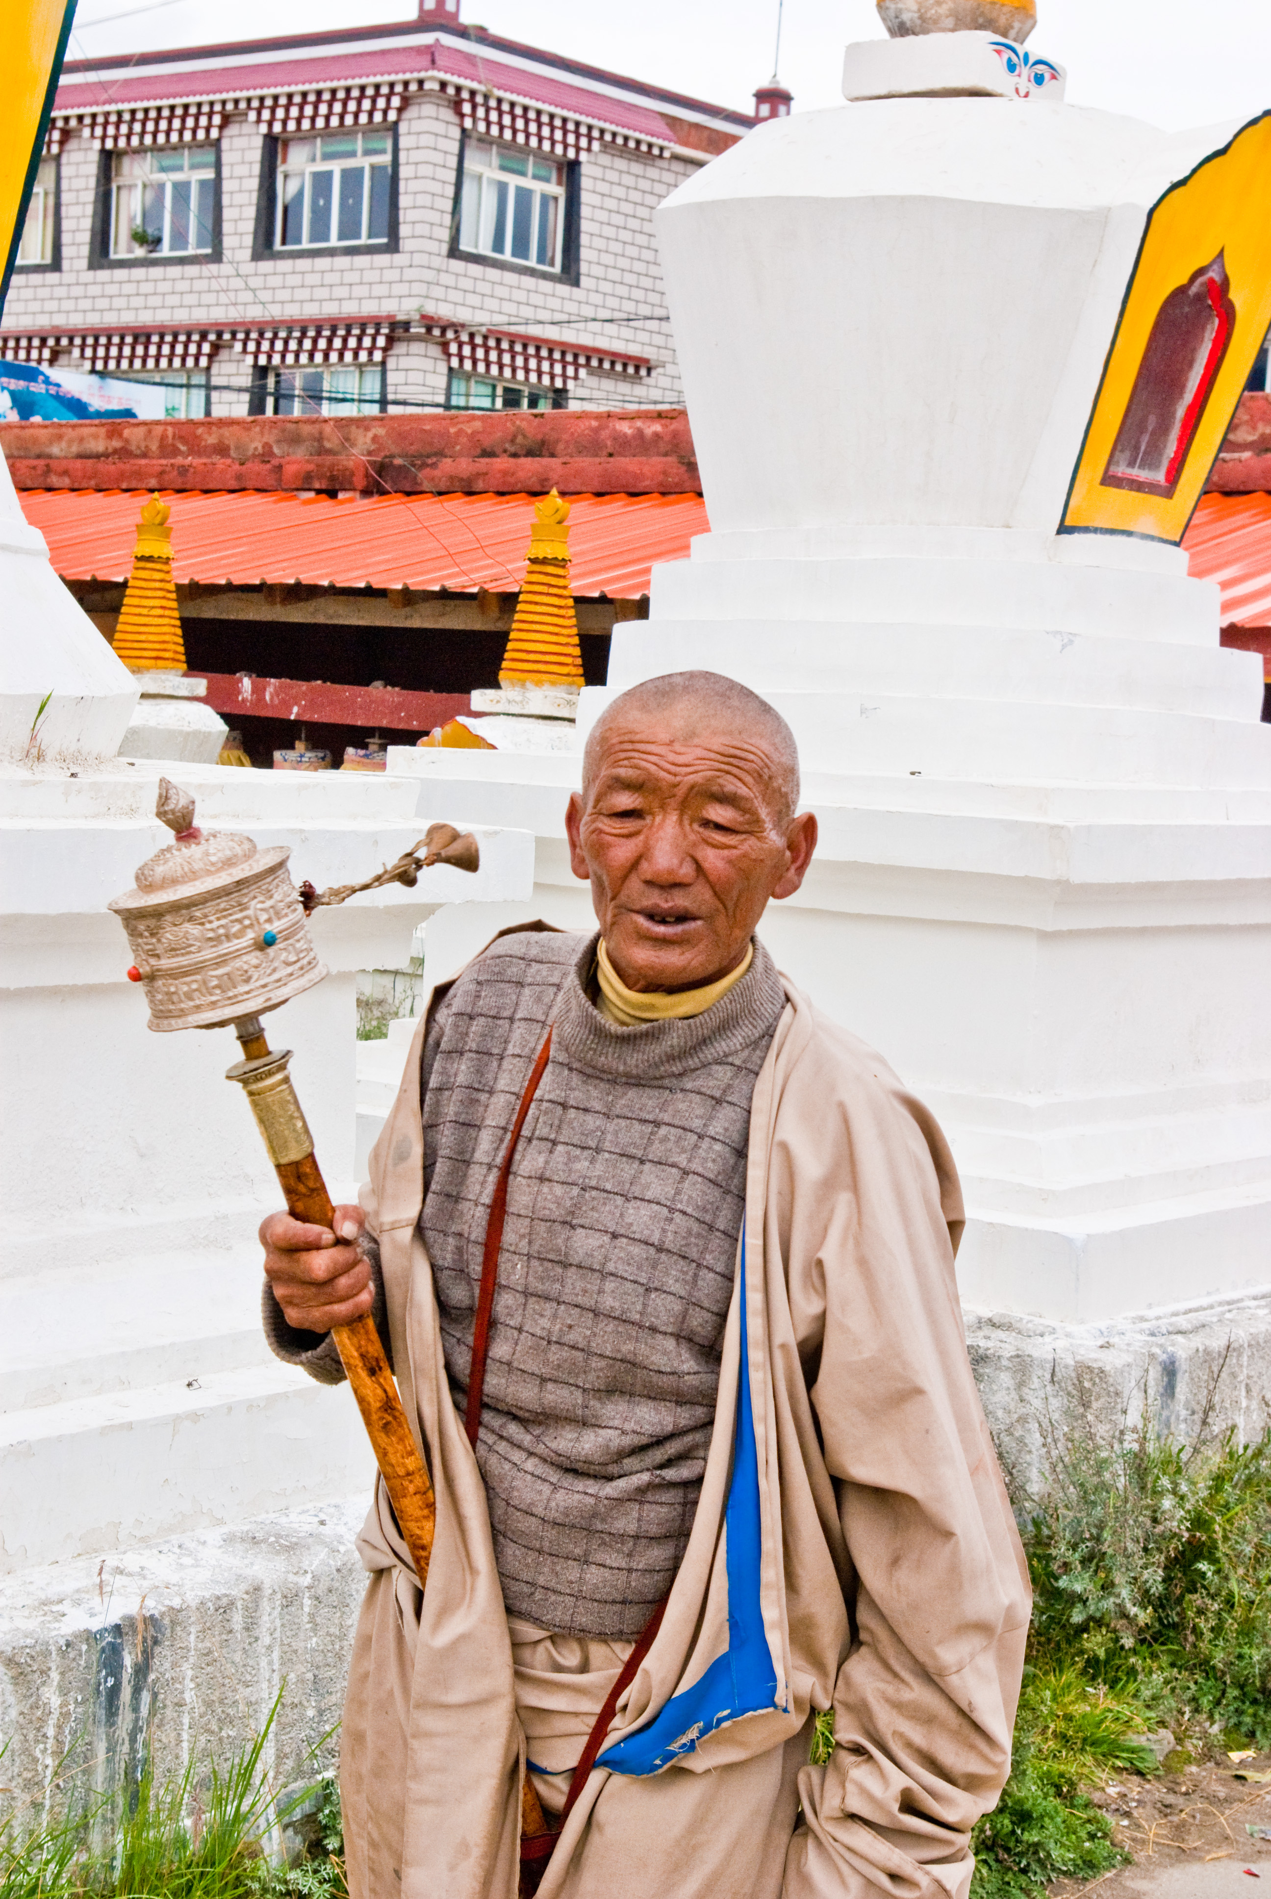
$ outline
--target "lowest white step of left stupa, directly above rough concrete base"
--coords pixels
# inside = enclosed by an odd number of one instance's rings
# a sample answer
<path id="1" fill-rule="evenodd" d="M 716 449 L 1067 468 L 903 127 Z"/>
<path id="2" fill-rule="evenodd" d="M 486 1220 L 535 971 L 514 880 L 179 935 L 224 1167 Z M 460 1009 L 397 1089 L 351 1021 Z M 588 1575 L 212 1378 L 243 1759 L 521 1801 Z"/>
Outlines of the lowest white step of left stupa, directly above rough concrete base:
<path id="1" fill-rule="evenodd" d="M 179 1379 L 9 1411 L 0 1572 L 370 1496 L 372 1472 L 353 1400 L 277 1360 L 211 1373 L 198 1390 Z"/>

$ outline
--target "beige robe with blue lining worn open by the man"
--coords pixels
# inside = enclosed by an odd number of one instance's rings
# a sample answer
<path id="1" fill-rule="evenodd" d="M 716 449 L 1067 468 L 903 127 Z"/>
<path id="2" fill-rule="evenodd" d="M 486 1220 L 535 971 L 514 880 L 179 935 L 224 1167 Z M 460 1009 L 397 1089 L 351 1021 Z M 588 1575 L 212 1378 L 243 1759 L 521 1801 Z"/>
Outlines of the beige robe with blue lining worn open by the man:
<path id="1" fill-rule="evenodd" d="M 1009 1772 L 1028 1572 L 963 1344 L 952 1156 L 870 1048 L 787 995 L 693 1531 L 541 1899 L 965 1899 L 967 1836 Z M 420 1039 L 363 1202 L 437 1542 L 420 1593 L 380 1487 L 348 1872 L 353 1899 L 515 1899 L 526 1747 L 418 1232 Z M 830 1705 L 834 1757 L 811 1768 Z"/>

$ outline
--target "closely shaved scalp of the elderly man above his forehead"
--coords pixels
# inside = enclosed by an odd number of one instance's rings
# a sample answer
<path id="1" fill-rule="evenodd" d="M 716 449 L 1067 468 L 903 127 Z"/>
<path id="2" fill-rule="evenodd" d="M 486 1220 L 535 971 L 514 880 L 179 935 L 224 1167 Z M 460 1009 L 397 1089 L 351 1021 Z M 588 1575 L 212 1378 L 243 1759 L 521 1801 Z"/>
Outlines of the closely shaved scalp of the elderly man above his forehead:
<path id="1" fill-rule="evenodd" d="M 633 720 L 655 725 L 669 741 L 741 741 L 769 763 L 764 801 L 785 828 L 798 809 L 794 733 L 766 699 L 726 672 L 661 672 L 612 699 L 587 737 L 583 805 L 591 799 L 608 735 Z"/>

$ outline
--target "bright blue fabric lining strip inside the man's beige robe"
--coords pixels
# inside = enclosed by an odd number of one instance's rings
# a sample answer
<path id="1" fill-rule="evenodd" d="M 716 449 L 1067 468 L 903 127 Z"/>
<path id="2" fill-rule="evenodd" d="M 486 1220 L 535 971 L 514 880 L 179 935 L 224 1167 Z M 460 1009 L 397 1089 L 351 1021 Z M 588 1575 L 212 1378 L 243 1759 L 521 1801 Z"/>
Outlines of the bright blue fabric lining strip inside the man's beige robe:
<path id="1" fill-rule="evenodd" d="M 760 1610 L 760 1466 L 750 1407 L 750 1356 L 747 1350 L 747 1250 L 741 1240 L 741 1369 L 737 1375 L 737 1426 L 733 1476 L 724 1508 L 728 1574 L 728 1650 L 682 1694 L 671 1696 L 661 1713 L 606 1749 L 597 1766 L 614 1774 L 657 1774 L 676 1755 L 690 1753 L 705 1734 L 743 1715 L 781 1711 L 764 1616 Z"/>

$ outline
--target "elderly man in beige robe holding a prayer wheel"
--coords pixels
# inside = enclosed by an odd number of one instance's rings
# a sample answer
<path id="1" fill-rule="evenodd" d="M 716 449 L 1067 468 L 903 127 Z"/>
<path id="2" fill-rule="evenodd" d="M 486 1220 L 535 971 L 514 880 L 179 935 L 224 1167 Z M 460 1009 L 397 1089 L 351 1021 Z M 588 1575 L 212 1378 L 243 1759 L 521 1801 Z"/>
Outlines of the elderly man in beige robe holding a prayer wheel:
<path id="1" fill-rule="evenodd" d="M 353 1899 L 511 1899 L 524 1774 L 541 1899 L 965 1899 L 1028 1580 L 948 1147 L 754 936 L 796 805 L 743 686 L 616 699 L 566 815 L 598 934 L 435 989 L 365 1215 L 262 1227 L 274 1348 L 334 1381 L 374 1310 L 437 1489 L 426 1591 L 382 1485 L 359 1540 Z"/>

